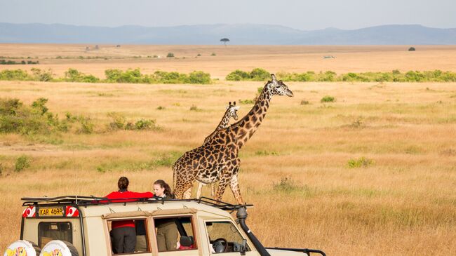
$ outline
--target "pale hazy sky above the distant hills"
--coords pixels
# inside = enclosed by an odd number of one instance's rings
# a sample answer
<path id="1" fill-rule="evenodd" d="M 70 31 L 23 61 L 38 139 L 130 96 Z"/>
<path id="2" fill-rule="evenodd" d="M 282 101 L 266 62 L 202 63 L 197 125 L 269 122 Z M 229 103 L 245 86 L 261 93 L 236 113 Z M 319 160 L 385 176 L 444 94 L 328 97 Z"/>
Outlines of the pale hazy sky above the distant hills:
<path id="1" fill-rule="evenodd" d="M 267 24 L 303 30 L 456 27 L 456 0 L 0 0 L 0 22 L 117 27 Z"/>

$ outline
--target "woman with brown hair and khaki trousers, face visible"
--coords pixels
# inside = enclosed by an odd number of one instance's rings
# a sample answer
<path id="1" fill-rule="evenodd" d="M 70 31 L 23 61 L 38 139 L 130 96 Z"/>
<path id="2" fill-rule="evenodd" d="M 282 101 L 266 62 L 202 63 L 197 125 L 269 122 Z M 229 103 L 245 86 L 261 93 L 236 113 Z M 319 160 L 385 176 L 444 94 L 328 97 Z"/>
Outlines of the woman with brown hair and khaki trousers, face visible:
<path id="1" fill-rule="evenodd" d="M 173 199 L 173 193 L 170 186 L 163 180 L 154 182 L 154 198 L 157 200 Z M 177 238 L 179 231 L 173 219 L 156 219 L 156 242 L 159 252 L 177 249 Z"/>

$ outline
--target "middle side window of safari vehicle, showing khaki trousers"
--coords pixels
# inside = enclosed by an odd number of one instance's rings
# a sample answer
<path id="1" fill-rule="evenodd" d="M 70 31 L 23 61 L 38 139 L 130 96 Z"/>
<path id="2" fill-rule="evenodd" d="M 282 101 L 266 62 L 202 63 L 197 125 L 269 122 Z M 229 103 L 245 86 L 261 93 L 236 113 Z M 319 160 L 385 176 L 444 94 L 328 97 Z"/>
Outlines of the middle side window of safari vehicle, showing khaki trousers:
<path id="1" fill-rule="evenodd" d="M 197 249 L 192 217 L 155 218 L 159 252 Z"/>

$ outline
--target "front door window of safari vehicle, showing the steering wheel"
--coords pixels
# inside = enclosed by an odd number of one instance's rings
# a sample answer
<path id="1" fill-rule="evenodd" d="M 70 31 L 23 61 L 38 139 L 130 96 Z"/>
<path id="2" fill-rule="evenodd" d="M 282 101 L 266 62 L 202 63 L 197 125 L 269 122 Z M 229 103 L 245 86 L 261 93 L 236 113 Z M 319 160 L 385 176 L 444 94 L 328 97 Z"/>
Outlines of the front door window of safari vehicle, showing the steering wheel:
<path id="1" fill-rule="evenodd" d="M 240 252 L 244 238 L 232 222 L 206 222 L 213 253 Z M 245 251 L 250 251 L 246 245 Z"/>

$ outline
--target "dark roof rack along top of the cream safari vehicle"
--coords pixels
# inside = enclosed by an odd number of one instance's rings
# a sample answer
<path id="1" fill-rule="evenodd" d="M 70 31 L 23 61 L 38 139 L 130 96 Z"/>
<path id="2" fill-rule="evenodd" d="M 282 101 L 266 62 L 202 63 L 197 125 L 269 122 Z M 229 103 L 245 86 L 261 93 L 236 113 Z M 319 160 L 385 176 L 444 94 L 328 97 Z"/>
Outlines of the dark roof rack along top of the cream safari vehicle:
<path id="1" fill-rule="evenodd" d="M 203 203 L 208 206 L 213 206 L 221 210 L 234 211 L 239 208 L 244 207 L 253 207 L 252 204 L 232 204 L 223 201 L 217 201 L 213 198 L 201 197 L 199 199 L 170 199 L 170 200 L 160 200 L 156 198 L 105 198 L 97 196 L 57 196 L 57 197 L 24 197 L 21 198 L 24 203 L 22 206 L 55 206 L 55 205 L 76 205 L 76 206 L 99 206 L 112 203 L 166 203 L 166 202 L 175 202 L 175 201 L 194 201 L 196 203 Z"/>

